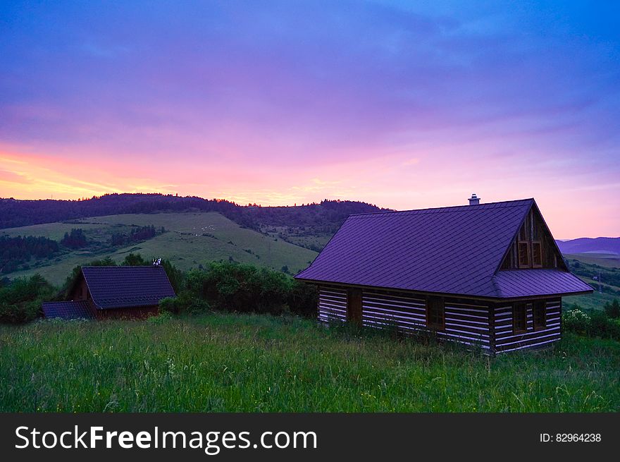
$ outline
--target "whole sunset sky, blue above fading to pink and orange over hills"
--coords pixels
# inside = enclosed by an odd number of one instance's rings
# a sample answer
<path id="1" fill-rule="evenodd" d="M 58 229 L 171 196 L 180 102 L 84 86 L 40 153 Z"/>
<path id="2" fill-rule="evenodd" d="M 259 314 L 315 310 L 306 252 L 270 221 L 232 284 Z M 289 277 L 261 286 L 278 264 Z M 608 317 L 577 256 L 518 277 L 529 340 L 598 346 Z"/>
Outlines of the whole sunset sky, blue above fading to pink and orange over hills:
<path id="1" fill-rule="evenodd" d="M 619 235 L 618 8 L 410 3 L 1 6 L 0 196 L 476 192 Z"/>

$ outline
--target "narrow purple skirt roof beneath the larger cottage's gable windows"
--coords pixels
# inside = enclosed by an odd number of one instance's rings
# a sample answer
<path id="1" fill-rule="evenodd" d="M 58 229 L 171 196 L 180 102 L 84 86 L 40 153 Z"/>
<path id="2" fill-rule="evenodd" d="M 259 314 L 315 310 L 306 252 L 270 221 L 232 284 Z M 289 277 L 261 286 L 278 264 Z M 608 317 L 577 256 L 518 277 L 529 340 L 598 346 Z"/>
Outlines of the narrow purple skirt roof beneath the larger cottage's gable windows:
<path id="1" fill-rule="evenodd" d="M 493 282 L 498 295 L 505 298 L 592 291 L 577 276 L 559 269 L 500 271 L 493 277 Z"/>

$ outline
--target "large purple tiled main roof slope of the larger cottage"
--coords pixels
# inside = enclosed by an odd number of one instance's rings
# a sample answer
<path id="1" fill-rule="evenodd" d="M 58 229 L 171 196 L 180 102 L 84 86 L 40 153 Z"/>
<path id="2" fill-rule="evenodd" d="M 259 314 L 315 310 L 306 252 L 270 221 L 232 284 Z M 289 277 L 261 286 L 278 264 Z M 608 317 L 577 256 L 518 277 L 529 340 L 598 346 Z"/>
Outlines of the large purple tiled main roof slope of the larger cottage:
<path id="1" fill-rule="evenodd" d="M 493 276 L 533 204 L 525 199 L 352 215 L 296 277 L 503 298 Z"/>

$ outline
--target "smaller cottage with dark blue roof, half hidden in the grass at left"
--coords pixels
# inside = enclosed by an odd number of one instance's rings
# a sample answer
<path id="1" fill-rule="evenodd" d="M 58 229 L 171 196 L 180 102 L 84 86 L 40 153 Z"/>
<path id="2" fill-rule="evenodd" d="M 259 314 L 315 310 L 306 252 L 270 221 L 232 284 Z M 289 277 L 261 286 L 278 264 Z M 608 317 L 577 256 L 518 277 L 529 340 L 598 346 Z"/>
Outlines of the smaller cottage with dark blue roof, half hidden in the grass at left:
<path id="1" fill-rule="evenodd" d="M 157 314 L 162 298 L 175 296 L 159 265 L 82 267 L 69 293 L 70 301 L 44 303 L 45 317 L 142 319 Z"/>

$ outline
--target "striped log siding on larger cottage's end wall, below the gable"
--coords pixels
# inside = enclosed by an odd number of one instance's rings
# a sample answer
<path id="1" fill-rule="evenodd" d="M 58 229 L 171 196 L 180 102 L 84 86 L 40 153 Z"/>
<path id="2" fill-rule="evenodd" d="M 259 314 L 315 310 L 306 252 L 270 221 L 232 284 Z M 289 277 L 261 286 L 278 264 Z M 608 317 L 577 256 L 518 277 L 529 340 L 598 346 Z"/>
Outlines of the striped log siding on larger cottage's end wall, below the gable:
<path id="1" fill-rule="evenodd" d="M 550 346 L 552 342 L 562 338 L 560 314 L 562 300 L 554 298 L 544 300 L 547 317 L 544 329 L 534 330 L 533 312 L 531 305 L 527 308 L 527 331 L 514 334 L 512 309 L 513 305 L 506 304 L 495 308 L 495 351 L 497 353 L 520 350 L 522 348 Z"/>

